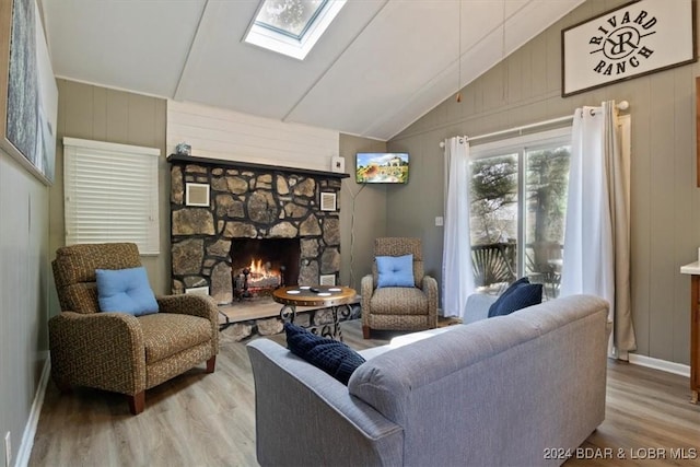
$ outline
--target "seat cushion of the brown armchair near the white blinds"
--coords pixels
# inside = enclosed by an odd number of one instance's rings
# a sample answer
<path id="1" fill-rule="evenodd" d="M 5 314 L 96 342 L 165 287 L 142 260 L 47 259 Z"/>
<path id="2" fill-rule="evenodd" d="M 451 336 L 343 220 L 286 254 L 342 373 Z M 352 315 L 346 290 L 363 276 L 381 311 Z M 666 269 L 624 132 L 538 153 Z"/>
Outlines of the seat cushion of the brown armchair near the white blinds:
<path id="1" fill-rule="evenodd" d="M 211 323 L 198 316 L 155 313 L 139 323 L 149 365 L 211 339 Z"/>

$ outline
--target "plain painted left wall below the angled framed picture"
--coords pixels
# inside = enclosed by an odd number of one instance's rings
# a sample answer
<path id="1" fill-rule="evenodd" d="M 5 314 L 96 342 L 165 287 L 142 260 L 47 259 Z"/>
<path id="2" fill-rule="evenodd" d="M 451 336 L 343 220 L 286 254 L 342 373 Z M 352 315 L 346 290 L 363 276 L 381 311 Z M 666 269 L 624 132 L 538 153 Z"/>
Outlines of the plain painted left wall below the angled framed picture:
<path id="1" fill-rule="evenodd" d="M 0 435 L 13 463 L 46 360 L 48 260 L 48 187 L 0 151 Z"/>

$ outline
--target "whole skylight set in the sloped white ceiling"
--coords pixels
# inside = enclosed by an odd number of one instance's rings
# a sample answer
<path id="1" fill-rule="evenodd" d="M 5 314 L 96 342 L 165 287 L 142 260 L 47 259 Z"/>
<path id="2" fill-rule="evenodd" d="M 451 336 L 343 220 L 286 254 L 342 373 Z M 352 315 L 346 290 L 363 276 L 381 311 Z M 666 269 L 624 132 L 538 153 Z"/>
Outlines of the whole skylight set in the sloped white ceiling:
<path id="1" fill-rule="evenodd" d="M 264 0 L 245 42 L 303 60 L 346 0 Z"/>

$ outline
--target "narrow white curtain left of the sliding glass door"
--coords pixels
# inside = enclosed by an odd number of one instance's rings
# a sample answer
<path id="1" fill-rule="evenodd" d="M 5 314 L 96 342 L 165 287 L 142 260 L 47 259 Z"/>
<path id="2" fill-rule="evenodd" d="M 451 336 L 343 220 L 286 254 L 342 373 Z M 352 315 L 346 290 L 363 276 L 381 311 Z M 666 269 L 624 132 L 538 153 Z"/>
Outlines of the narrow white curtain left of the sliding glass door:
<path id="1" fill-rule="evenodd" d="M 469 142 L 445 140 L 445 225 L 442 258 L 443 314 L 463 316 L 474 293 L 469 236 Z"/>

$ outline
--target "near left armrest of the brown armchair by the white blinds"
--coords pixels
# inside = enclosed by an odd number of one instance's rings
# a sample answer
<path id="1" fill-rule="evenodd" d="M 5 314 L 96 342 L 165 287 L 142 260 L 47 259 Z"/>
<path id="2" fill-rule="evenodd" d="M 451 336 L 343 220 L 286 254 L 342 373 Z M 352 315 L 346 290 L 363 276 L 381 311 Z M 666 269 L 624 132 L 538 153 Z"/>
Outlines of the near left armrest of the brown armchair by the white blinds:
<path id="1" fill-rule="evenodd" d="M 145 349 L 137 317 L 62 312 L 49 319 L 48 335 L 51 377 L 59 387 L 127 395 L 145 389 Z"/>

